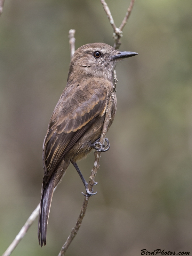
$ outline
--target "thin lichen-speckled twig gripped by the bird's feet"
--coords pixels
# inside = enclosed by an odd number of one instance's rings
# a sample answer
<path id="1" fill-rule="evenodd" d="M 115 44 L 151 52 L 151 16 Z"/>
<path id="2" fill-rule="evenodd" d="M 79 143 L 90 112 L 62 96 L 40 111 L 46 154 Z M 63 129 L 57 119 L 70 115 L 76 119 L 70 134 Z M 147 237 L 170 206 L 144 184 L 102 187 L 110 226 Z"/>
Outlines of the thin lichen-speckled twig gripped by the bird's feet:
<path id="1" fill-rule="evenodd" d="M 113 106 L 113 101 L 115 99 L 116 83 L 117 83 L 116 72 L 114 70 L 114 87 L 113 87 L 113 92 L 111 93 L 110 98 L 108 100 L 108 107 L 106 109 L 105 120 L 104 120 L 103 129 L 102 129 L 102 133 L 101 133 L 101 137 L 100 137 L 101 145 L 104 144 L 105 134 L 108 130 L 108 125 L 109 125 L 109 122 L 110 122 L 110 119 L 111 119 L 111 110 L 112 110 L 112 106 Z M 90 191 L 92 190 L 92 186 L 95 183 L 95 181 L 94 181 L 95 175 L 96 175 L 96 173 L 99 169 L 99 160 L 100 160 L 101 152 L 95 151 L 94 156 L 95 156 L 94 166 L 91 170 L 91 175 L 89 177 L 89 185 L 88 185 Z M 76 225 L 72 229 L 71 234 L 68 236 L 68 239 L 65 242 L 65 244 L 63 244 L 63 247 L 61 248 L 61 251 L 58 254 L 58 256 L 64 256 L 65 255 L 65 252 L 67 251 L 69 245 L 71 244 L 74 237 L 76 236 L 76 234 L 77 234 L 77 232 L 78 232 L 78 230 L 81 226 L 82 220 L 85 216 L 85 212 L 86 212 L 86 209 L 87 209 L 89 198 L 90 198 L 89 196 L 84 197 L 83 205 L 81 207 L 81 211 L 80 211 L 79 217 L 77 219 Z"/>

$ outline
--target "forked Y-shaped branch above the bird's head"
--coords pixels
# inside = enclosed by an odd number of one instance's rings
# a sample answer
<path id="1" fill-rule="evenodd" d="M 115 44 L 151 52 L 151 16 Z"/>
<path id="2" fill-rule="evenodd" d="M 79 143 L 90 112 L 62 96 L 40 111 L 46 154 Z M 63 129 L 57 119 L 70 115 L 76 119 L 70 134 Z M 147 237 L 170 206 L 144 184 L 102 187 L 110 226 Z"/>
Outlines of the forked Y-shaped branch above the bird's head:
<path id="1" fill-rule="evenodd" d="M 129 16 L 131 14 L 131 11 L 132 11 L 132 8 L 133 8 L 133 4 L 134 4 L 135 0 L 131 0 L 131 3 L 129 5 L 129 8 L 127 9 L 127 13 L 124 17 L 124 20 L 122 21 L 121 23 L 121 26 L 119 28 L 116 27 L 115 23 L 114 23 L 114 20 L 113 20 L 113 17 L 111 15 L 111 12 L 109 10 L 109 7 L 108 5 L 106 4 L 105 0 L 101 0 L 101 4 L 103 5 L 103 9 L 104 11 L 106 12 L 107 14 L 107 17 L 109 19 L 109 22 L 113 28 L 113 39 L 115 41 L 115 44 L 114 44 L 114 48 L 115 49 L 119 49 L 120 45 L 121 45 L 121 41 L 120 41 L 120 38 L 123 36 L 123 28 L 125 26 L 125 24 L 127 23 L 127 20 L 129 19 Z"/>

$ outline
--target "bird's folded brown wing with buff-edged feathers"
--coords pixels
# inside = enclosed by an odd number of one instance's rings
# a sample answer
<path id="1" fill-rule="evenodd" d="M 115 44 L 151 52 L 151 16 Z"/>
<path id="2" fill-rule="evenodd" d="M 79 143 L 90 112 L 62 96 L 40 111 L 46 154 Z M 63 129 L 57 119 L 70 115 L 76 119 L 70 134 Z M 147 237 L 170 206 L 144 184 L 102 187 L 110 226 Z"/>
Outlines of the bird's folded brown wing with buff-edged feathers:
<path id="1" fill-rule="evenodd" d="M 83 88 L 66 87 L 58 101 L 43 145 L 44 183 L 94 122 L 105 113 L 107 90 L 97 83 Z"/>

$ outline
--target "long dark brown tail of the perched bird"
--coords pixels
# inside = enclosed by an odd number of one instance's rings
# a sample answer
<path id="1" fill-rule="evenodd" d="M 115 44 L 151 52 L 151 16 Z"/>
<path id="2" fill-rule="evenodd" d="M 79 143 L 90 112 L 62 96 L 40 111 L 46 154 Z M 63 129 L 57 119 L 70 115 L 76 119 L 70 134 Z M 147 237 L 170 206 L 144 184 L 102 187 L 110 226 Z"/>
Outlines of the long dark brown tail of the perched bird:
<path id="1" fill-rule="evenodd" d="M 38 239 L 41 247 L 46 245 L 47 223 L 54 190 L 54 176 L 52 175 L 42 191 L 38 222 Z"/>

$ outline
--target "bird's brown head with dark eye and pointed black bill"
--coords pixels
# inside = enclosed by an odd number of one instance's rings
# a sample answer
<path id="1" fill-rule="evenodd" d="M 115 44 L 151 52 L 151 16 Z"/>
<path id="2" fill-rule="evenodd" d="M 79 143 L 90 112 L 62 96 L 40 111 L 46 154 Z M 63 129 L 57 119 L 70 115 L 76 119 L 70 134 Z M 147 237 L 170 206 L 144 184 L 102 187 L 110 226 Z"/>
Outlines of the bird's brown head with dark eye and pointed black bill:
<path id="1" fill-rule="evenodd" d="M 112 79 L 118 60 L 137 55 L 136 52 L 120 52 L 104 43 L 85 44 L 78 48 L 71 59 L 68 80 L 79 76 Z M 70 79 L 71 80 L 71 79 Z"/>

